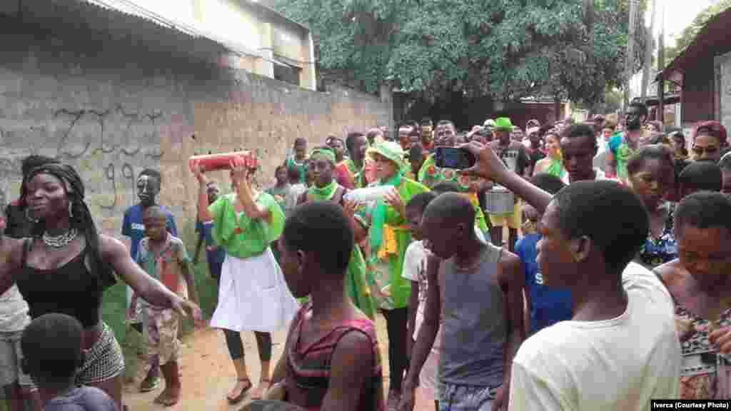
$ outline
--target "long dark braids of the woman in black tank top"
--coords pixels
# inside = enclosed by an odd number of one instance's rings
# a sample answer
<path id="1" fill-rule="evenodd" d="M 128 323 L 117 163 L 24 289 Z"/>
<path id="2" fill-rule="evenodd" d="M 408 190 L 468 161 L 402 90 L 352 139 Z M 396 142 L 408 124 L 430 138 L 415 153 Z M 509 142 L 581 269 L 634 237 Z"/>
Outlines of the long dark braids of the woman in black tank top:
<path id="1" fill-rule="evenodd" d="M 71 203 L 69 223 L 71 227 L 84 234 L 86 244 L 91 249 L 91 257 L 93 258 L 88 260 L 91 273 L 97 276 L 102 289 L 110 287 L 115 283 L 115 278 L 112 274 L 112 268 L 102 259 L 99 233 L 96 231 L 91 212 L 84 202 L 84 184 L 81 177 L 70 165 L 48 163 L 31 170 L 23 181 L 23 186 L 26 186 L 38 174 L 48 174 L 61 180 L 64 191 L 69 198 L 69 203 Z M 39 237 L 44 231 L 45 221 L 34 222 L 32 230 L 34 237 Z"/>

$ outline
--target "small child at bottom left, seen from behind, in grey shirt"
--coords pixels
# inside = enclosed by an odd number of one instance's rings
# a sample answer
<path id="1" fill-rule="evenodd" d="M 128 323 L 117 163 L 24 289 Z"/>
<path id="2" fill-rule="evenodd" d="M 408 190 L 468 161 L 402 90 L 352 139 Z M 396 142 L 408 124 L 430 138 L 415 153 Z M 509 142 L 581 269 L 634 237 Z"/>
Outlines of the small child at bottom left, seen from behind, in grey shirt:
<path id="1" fill-rule="evenodd" d="M 75 385 L 82 331 L 74 317 L 57 313 L 37 317 L 23 331 L 23 369 L 38 385 L 44 411 L 118 411 L 104 391 Z"/>

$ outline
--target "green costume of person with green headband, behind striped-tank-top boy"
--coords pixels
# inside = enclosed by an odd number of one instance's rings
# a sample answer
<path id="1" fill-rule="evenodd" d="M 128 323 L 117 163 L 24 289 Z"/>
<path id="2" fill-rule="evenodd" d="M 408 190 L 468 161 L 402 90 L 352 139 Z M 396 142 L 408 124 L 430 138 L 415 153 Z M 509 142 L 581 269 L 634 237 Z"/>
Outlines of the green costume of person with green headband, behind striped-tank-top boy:
<path id="1" fill-rule="evenodd" d="M 335 180 L 322 188 L 311 186 L 307 189 L 307 200 L 331 201 L 335 193 L 338 192 L 338 188 L 340 188 L 340 185 Z M 363 260 L 360 246 L 354 244 L 345 276 L 345 288 L 355 306 L 373 320 L 376 317 L 376 302 L 371 296 L 367 279 L 366 260 Z"/>

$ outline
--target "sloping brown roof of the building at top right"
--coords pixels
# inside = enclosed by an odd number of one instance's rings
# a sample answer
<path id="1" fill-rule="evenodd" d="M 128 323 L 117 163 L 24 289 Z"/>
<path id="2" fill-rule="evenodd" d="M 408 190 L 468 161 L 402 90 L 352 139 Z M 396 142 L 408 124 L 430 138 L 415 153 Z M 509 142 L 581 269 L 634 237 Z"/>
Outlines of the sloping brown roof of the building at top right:
<path id="1" fill-rule="evenodd" d="M 659 75 L 662 75 L 664 80 L 682 85 L 683 72 L 686 71 L 687 67 L 693 67 L 699 64 L 702 59 L 713 58 L 731 50 L 731 43 L 727 38 L 730 25 L 731 8 L 713 16 L 700 29 L 693 42 L 682 53 L 678 54 L 673 61 L 670 61 L 670 64 L 667 64 L 667 67 Z"/>

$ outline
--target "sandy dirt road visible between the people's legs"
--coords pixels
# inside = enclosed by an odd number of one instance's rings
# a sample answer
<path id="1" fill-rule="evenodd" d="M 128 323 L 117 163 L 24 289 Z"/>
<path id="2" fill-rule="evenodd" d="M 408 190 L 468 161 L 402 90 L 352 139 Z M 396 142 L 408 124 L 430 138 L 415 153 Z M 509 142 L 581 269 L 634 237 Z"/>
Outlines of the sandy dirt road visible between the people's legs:
<path id="1" fill-rule="evenodd" d="M 388 361 L 388 340 L 386 338 L 386 324 L 383 317 L 377 320 L 378 338 L 384 364 Z M 246 352 L 249 377 L 252 381 L 259 380 L 259 360 L 257 345 L 253 333 L 243 333 L 244 350 Z M 276 360 L 284 350 L 285 331 L 274 333 L 273 358 Z M 208 410 L 233 411 L 246 404 L 248 398 L 238 405 L 229 405 L 226 394 L 232 388 L 236 374 L 231 364 L 223 333 L 219 330 L 206 328 L 197 330 L 183 337 L 181 347 L 181 374 L 183 382 L 183 396 L 181 401 L 167 410 Z M 388 387 L 388 367 L 384 367 L 385 388 Z M 166 409 L 162 405 L 153 404 L 153 400 L 162 391 L 162 387 L 149 393 L 140 393 L 137 389 L 144 378 L 144 367 L 137 367 L 137 377 L 133 384 L 124 388 L 124 403 L 130 411 L 152 411 Z M 431 411 L 433 402 L 429 399 L 419 399 L 417 410 Z"/>

